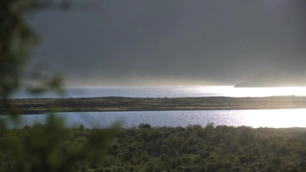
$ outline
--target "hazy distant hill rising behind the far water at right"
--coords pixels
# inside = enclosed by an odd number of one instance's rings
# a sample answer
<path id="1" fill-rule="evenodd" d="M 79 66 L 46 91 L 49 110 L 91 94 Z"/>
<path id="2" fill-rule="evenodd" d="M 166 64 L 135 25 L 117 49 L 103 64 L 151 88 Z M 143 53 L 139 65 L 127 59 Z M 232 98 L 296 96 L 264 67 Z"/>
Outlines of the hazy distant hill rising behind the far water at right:
<path id="1" fill-rule="evenodd" d="M 235 85 L 236 88 L 250 87 L 305 87 L 304 79 L 281 72 L 261 71 L 255 76 Z"/>

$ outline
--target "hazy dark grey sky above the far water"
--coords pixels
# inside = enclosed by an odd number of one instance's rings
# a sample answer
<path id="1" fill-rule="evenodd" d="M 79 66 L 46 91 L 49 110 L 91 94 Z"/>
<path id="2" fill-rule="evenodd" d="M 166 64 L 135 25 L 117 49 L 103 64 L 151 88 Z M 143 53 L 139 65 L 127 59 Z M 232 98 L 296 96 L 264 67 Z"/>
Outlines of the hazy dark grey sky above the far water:
<path id="1" fill-rule="evenodd" d="M 258 72 L 304 78 L 306 1 L 72 1 L 28 17 L 29 66 L 67 85 L 235 85 Z M 34 66 L 34 67 L 33 67 Z"/>

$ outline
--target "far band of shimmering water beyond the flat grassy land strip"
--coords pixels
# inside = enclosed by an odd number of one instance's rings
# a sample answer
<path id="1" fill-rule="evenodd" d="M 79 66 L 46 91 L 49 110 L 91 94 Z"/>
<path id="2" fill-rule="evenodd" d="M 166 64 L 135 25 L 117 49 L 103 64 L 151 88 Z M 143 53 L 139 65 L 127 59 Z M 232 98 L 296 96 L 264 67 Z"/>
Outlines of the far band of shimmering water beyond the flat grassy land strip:
<path id="1" fill-rule="evenodd" d="M 234 86 L 209 87 L 69 87 L 61 97 L 54 93 L 30 95 L 24 90 L 12 98 L 90 98 L 90 97 L 137 97 L 137 98 L 181 98 L 181 97 L 266 97 L 266 96 L 306 96 L 306 87 L 298 88 L 233 88 Z"/>

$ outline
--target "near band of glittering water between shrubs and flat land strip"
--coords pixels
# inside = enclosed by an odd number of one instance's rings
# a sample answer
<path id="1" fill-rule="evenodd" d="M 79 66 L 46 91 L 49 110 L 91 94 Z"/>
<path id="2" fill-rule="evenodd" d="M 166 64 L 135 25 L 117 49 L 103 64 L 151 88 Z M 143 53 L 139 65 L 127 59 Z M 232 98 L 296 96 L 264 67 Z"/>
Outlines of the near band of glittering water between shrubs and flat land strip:
<path id="1" fill-rule="evenodd" d="M 67 127 L 107 128 L 120 120 L 122 127 L 138 126 L 147 123 L 151 126 L 187 126 L 207 123 L 215 125 L 257 127 L 306 127 L 306 109 L 278 110 L 219 110 L 219 111 L 149 111 L 149 112 L 81 112 L 59 113 Z M 33 123 L 44 123 L 47 115 L 24 115 L 17 128 Z M 6 116 L 1 116 L 6 118 Z M 14 127 L 11 125 L 10 127 Z"/>

